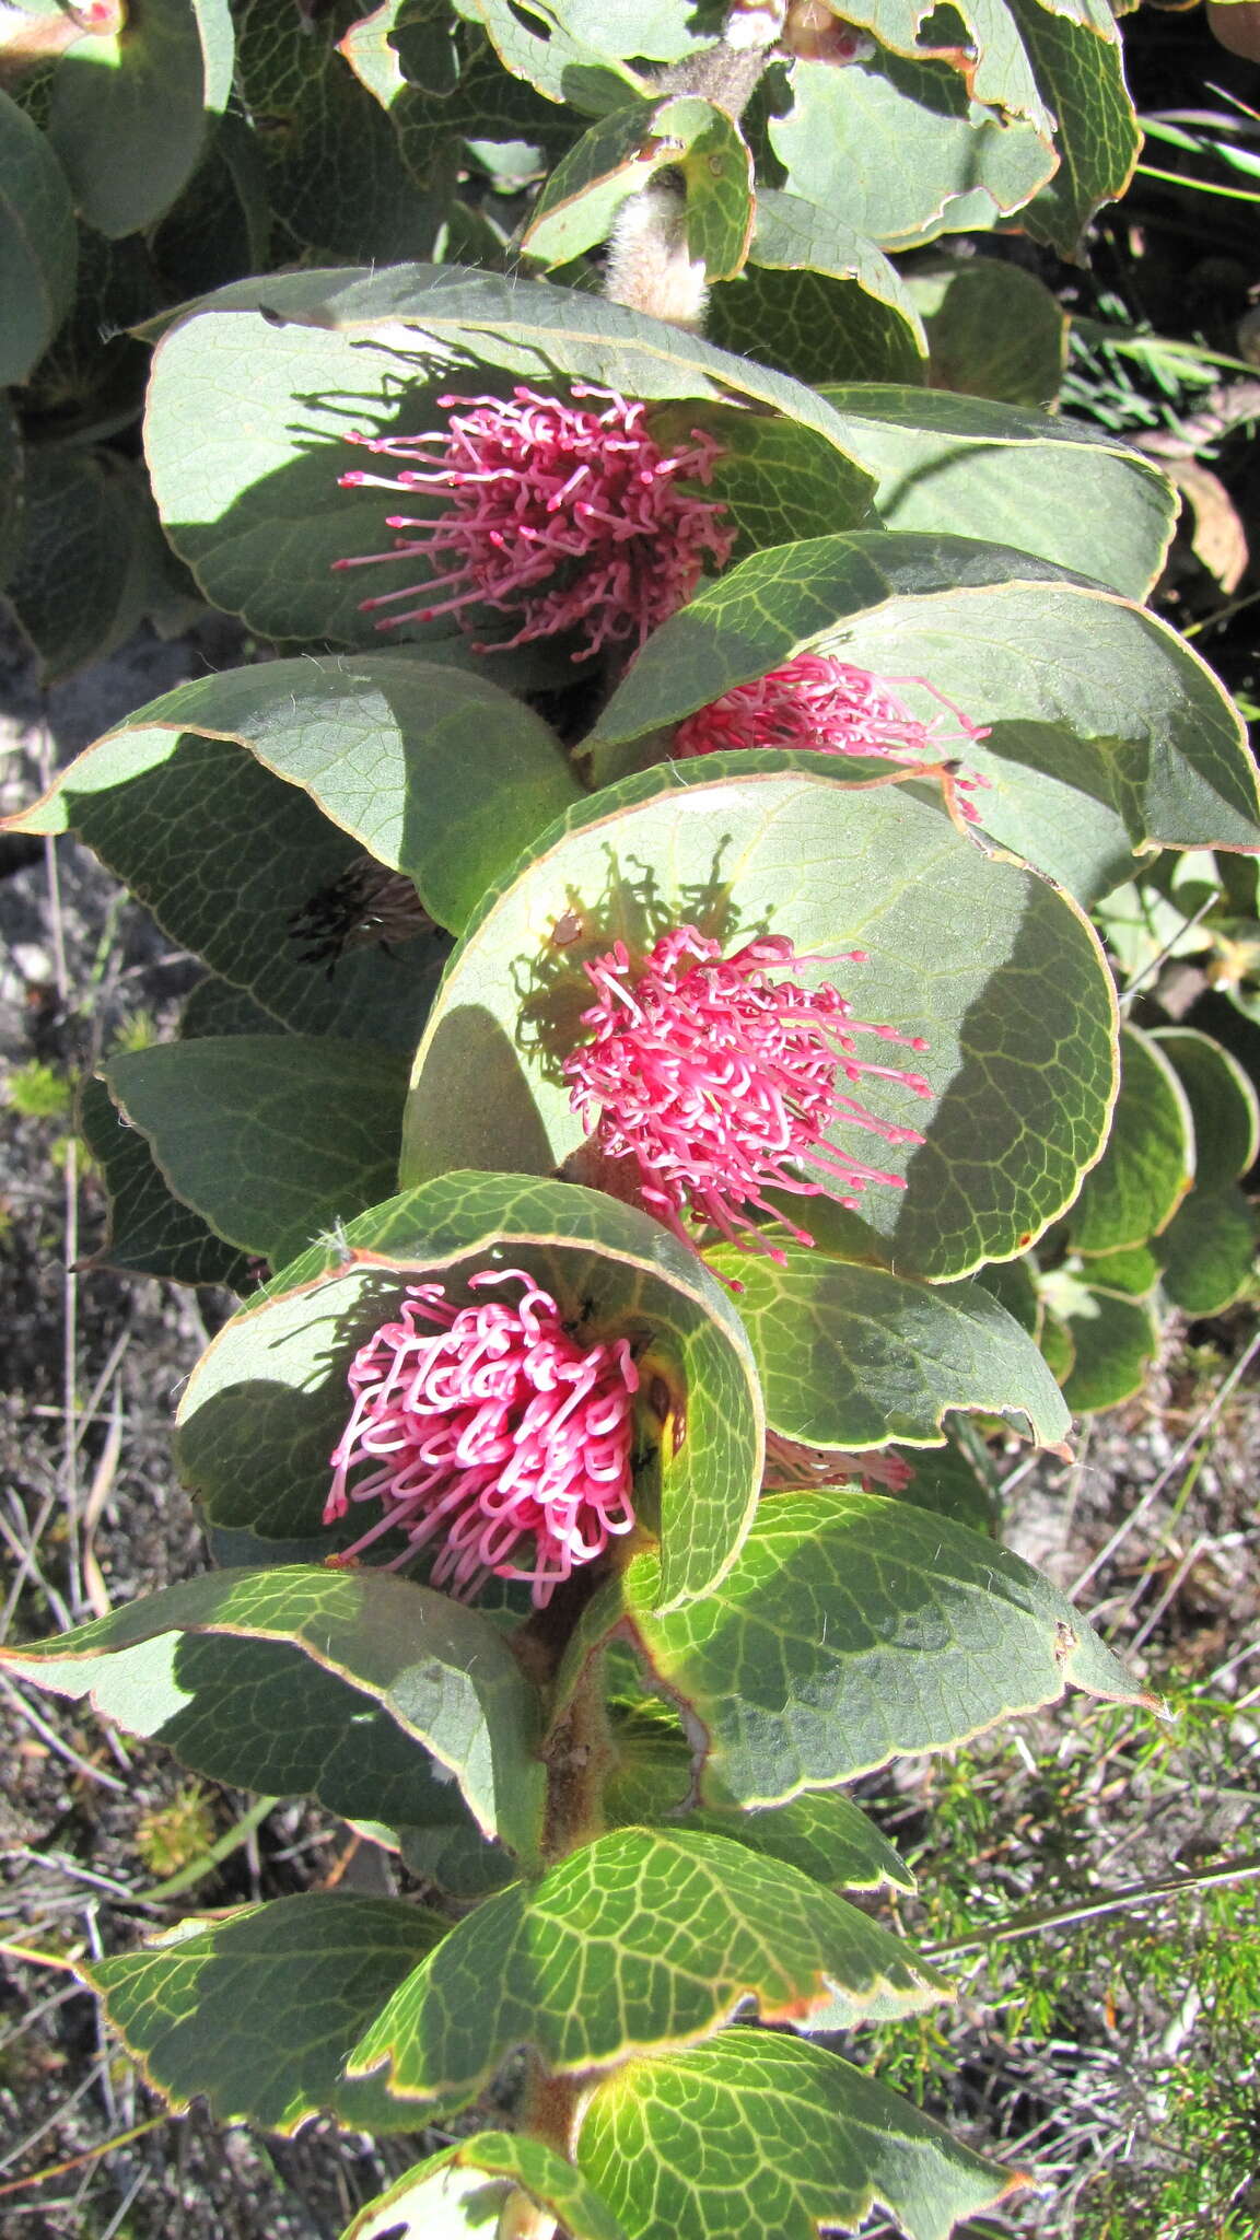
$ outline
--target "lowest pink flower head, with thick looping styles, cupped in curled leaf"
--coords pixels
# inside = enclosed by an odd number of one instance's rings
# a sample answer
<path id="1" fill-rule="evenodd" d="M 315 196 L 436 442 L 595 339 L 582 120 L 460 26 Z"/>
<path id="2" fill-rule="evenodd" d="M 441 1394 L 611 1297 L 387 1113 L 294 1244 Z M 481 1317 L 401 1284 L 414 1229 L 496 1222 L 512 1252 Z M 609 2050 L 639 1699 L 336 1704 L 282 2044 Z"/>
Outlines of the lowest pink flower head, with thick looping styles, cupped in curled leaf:
<path id="1" fill-rule="evenodd" d="M 442 1284 L 415 1284 L 399 1319 L 359 1348 L 323 1521 L 336 1523 L 352 1501 L 381 1501 L 383 1514 L 334 1564 L 399 1530 L 406 1548 L 386 1568 L 439 1539 L 433 1586 L 469 1599 L 491 1572 L 529 1579 L 543 1608 L 634 1523 L 639 1371 L 623 1337 L 578 1344 L 520 1268 L 475 1275 L 469 1290 L 489 1284 L 522 1290 L 513 1304 L 453 1306 Z M 354 1476 L 359 1465 L 365 1476 Z"/>

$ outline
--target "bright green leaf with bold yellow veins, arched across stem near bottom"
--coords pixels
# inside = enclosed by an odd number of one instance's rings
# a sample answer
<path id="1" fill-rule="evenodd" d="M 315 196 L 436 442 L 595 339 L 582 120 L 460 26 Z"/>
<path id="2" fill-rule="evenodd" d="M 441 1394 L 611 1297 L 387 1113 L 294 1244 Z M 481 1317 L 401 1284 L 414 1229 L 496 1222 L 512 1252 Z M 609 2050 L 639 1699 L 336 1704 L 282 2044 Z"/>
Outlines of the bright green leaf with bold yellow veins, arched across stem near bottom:
<path id="1" fill-rule="evenodd" d="M 457 1922 L 350 2059 L 390 2094 L 464 2106 L 516 2045 L 554 2072 L 708 2034 L 744 1998 L 767 2020 L 892 2018 L 944 1980 L 782 1861 L 684 1830 L 621 1828 Z M 832 2023 L 834 2018 L 834 2023 Z"/>

